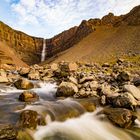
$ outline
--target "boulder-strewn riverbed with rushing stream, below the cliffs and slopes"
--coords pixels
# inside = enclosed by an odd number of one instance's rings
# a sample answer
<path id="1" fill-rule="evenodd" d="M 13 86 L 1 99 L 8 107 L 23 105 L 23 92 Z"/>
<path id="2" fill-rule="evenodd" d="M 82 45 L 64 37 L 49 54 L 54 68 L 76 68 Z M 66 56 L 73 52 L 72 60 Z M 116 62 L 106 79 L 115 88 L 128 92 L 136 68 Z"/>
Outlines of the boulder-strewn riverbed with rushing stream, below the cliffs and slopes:
<path id="1" fill-rule="evenodd" d="M 123 59 L 0 69 L 0 139 L 140 139 L 139 106 L 139 65 Z"/>

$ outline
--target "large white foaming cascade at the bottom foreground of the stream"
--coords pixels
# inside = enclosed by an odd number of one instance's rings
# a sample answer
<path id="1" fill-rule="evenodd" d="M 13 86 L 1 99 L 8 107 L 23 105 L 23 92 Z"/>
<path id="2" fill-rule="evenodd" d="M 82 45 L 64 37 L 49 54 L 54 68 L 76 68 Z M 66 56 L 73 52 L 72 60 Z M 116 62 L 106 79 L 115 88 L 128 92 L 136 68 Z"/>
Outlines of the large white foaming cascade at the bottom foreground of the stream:
<path id="1" fill-rule="evenodd" d="M 34 134 L 34 139 L 43 140 L 45 137 L 57 139 L 54 136 L 59 134 L 65 140 L 132 140 L 119 128 L 99 120 L 95 114 L 86 113 L 65 122 L 52 122 L 45 127 L 40 127 Z"/>

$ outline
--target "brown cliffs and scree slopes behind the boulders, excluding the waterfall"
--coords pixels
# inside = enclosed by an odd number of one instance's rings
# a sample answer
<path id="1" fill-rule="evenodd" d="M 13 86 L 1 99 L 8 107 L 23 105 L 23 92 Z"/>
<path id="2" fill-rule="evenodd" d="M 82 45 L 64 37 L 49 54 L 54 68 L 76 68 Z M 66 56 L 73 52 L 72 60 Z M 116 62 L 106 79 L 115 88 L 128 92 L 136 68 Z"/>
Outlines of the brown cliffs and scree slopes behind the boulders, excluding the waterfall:
<path id="1" fill-rule="evenodd" d="M 45 40 L 45 60 L 100 62 L 120 55 L 139 53 L 139 25 L 140 6 L 126 15 L 109 13 L 102 19 L 83 20 L 79 26 Z M 1 63 L 40 63 L 42 49 L 43 38 L 29 36 L 0 22 Z"/>

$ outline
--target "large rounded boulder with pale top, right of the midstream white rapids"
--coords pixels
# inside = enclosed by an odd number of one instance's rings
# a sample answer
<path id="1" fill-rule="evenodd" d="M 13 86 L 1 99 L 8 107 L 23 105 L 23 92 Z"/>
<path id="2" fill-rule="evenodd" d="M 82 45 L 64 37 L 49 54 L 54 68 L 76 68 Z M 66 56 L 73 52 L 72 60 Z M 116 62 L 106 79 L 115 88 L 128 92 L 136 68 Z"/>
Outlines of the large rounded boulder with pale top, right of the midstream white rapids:
<path id="1" fill-rule="evenodd" d="M 73 96 L 77 92 L 78 92 L 78 88 L 75 84 L 70 82 L 62 82 L 58 87 L 56 96 L 69 97 L 69 96 Z"/>

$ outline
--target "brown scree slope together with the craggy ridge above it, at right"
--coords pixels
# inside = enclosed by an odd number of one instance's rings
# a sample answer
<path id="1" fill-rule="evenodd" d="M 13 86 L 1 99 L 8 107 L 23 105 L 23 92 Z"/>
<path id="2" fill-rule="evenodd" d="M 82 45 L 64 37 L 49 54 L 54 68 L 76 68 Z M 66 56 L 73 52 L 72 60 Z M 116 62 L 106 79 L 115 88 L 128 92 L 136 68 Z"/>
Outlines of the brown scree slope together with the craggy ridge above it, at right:
<path id="1" fill-rule="evenodd" d="M 126 15 L 109 13 L 102 19 L 86 22 L 94 28 L 94 32 L 46 62 L 106 62 L 140 53 L 140 6 Z"/>

